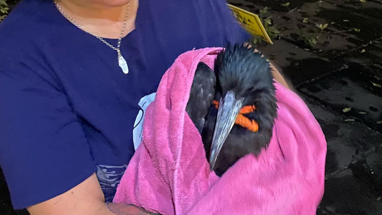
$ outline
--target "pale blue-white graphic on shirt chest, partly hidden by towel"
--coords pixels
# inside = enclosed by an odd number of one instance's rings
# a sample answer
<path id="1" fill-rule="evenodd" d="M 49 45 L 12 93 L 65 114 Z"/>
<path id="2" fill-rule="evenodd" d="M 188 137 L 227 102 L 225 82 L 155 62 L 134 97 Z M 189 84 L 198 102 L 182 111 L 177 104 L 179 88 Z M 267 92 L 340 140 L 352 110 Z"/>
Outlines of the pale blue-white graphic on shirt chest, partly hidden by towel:
<path id="1" fill-rule="evenodd" d="M 144 115 L 146 112 L 146 108 L 151 104 L 155 99 L 156 93 L 151 93 L 147 96 L 144 96 L 139 100 L 139 107 L 141 107 L 141 110 L 138 112 L 138 116 L 135 119 L 134 122 L 134 129 L 133 129 L 133 142 L 134 142 L 134 149 L 137 150 L 139 144 L 142 142 L 142 130 L 143 130 L 143 121 L 144 121 Z"/>

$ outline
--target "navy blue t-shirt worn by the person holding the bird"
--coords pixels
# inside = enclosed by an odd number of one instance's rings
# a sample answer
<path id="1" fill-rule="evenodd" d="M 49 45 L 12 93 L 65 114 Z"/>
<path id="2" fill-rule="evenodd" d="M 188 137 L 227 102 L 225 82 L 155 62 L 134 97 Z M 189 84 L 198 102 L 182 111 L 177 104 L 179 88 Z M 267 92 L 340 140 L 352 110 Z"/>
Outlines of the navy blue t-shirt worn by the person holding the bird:
<path id="1" fill-rule="evenodd" d="M 0 24 L 0 164 L 14 207 L 93 173 L 111 201 L 141 142 L 144 110 L 176 57 L 248 38 L 225 0 L 140 0 L 136 29 L 121 42 L 126 75 L 117 52 L 52 1 L 21 2 Z"/>

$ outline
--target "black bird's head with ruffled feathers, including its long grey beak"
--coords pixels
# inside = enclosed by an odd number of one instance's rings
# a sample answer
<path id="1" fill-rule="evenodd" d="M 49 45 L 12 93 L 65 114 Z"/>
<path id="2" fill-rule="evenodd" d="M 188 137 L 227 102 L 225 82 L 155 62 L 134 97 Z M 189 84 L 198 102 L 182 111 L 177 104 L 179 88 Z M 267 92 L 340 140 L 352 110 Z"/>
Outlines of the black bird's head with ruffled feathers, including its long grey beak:
<path id="1" fill-rule="evenodd" d="M 239 115 L 245 114 L 250 121 L 258 123 L 259 132 L 270 132 L 271 137 L 277 113 L 270 64 L 261 53 L 254 52 L 254 48 L 241 44 L 228 45 L 217 55 L 215 73 L 219 109 L 211 145 L 211 169 L 214 169 L 223 143 Z M 241 112 L 246 106 L 255 110 Z"/>

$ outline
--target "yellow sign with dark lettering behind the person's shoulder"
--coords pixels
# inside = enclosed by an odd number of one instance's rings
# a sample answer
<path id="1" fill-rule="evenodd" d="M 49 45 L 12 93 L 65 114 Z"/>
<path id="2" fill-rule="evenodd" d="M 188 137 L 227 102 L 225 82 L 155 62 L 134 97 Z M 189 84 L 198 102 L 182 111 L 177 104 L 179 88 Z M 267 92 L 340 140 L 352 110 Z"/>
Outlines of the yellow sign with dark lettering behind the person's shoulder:
<path id="1" fill-rule="evenodd" d="M 227 4 L 229 8 L 233 11 L 236 19 L 249 33 L 255 36 L 262 36 L 265 41 L 273 44 L 272 40 L 269 38 L 267 31 L 265 31 L 259 16 L 249 11 L 243 10 L 241 8 L 235 7 L 233 5 Z"/>

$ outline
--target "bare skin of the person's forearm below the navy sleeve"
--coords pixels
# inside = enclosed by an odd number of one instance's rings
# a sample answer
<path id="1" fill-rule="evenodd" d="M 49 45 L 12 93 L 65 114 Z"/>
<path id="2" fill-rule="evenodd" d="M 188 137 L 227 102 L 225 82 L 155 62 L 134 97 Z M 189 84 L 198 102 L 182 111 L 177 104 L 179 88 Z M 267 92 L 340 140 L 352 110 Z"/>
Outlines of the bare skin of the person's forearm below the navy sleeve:
<path id="1" fill-rule="evenodd" d="M 108 203 L 95 174 L 69 191 L 27 208 L 31 215 L 148 215 L 134 205 Z"/>

